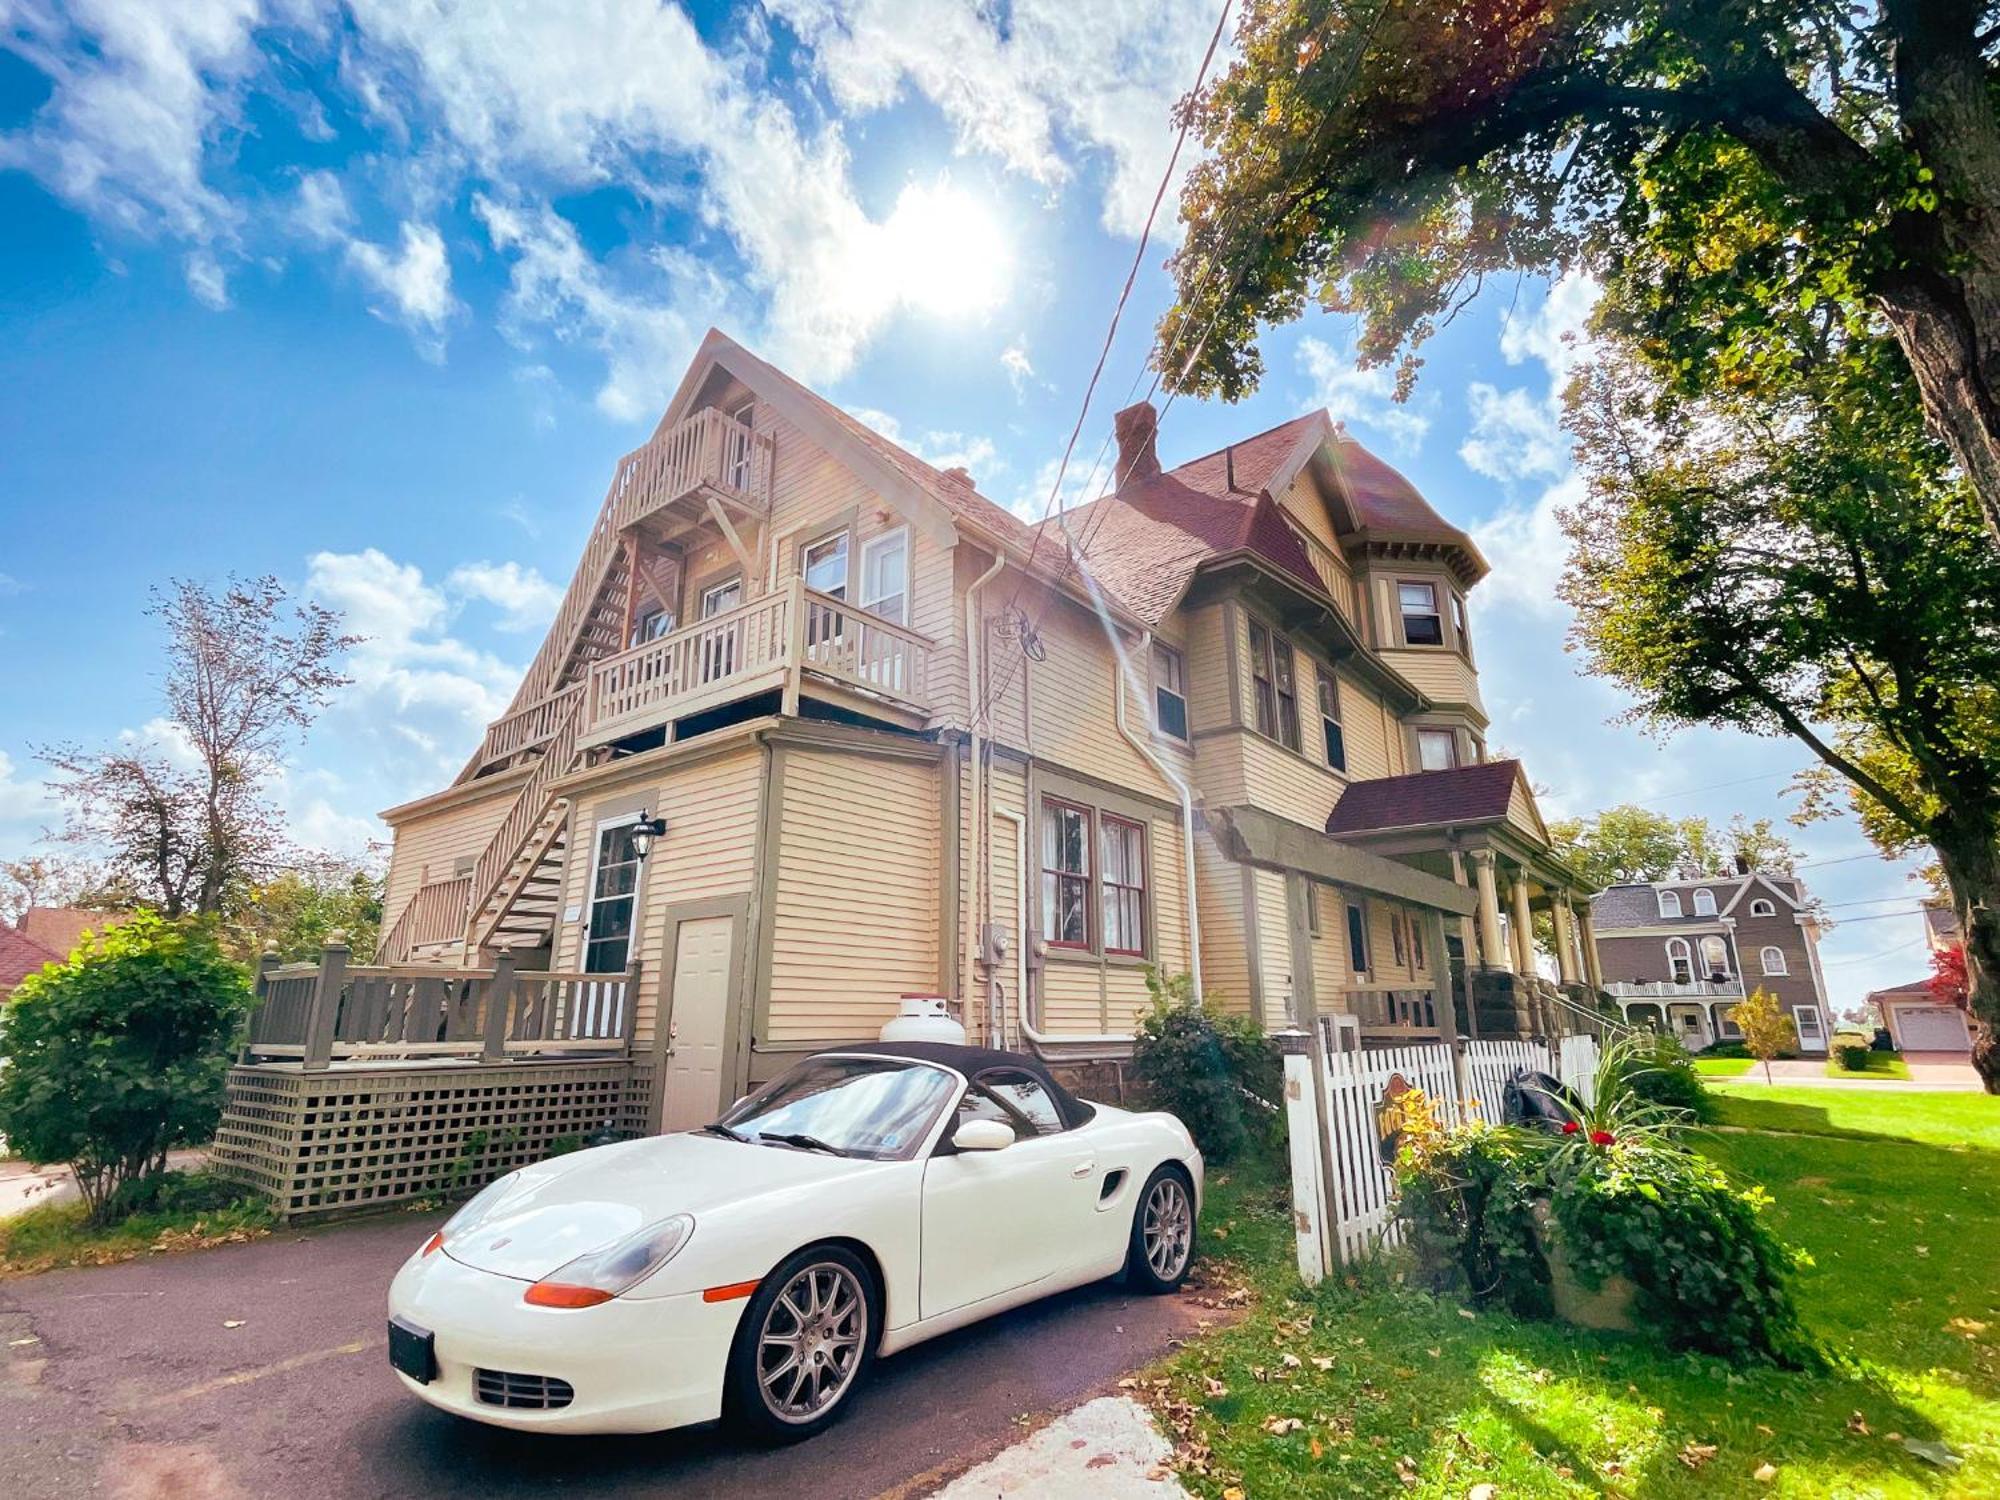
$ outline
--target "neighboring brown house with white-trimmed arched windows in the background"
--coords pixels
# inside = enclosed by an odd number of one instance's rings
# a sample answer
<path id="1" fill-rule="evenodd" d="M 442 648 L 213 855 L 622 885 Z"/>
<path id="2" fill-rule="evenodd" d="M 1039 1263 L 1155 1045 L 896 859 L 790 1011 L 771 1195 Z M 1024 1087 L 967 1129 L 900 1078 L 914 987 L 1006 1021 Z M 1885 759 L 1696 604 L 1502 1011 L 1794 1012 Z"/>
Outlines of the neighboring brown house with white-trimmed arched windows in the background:
<path id="1" fill-rule="evenodd" d="M 1792 1014 L 1800 1052 L 1826 1052 L 1820 928 L 1798 876 L 1744 870 L 1612 886 L 1590 910 L 1604 988 L 1626 1020 L 1700 1050 L 1742 1036 L 1728 1012 L 1768 990 Z"/>

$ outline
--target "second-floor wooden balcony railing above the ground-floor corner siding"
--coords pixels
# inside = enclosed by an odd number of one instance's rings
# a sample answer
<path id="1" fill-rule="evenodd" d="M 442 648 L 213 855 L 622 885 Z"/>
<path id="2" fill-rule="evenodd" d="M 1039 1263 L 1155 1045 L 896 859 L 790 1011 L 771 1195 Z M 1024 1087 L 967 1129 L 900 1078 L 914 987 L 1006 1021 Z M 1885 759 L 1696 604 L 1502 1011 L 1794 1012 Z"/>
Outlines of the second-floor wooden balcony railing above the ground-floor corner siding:
<path id="1" fill-rule="evenodd" d="M 930 642 L 798 578 L 726 614 L 592 664 L 592 740 L 782 688 L 796 672 L 926 712 Z"/>

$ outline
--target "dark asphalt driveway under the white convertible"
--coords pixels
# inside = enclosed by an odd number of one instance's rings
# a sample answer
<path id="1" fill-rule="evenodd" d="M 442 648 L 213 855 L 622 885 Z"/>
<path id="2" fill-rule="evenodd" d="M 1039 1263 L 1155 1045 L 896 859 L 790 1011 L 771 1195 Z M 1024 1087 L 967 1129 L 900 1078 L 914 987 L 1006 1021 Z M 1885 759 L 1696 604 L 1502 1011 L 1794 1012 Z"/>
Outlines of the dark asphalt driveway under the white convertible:
<path id="1" fill-rule="evenodd" d="M 776 1452 L 710 1430 L 510 1434 L 410 1400 L 388 1372 L 388 1280 L 436 1222 L 0 1282 L 0 1496 L 924 1494 L 1214 1316 L 1070 1292 L 884 1360 L 846 1422 Z"/>

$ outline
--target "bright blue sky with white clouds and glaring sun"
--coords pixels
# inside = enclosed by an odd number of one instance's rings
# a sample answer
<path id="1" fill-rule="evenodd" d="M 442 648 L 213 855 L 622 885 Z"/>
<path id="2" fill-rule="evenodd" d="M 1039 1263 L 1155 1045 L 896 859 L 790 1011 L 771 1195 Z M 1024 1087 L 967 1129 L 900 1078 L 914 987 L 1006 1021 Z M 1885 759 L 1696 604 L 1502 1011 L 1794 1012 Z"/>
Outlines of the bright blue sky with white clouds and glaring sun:
<path id="1" fill-rule="evenodd" d="M 306 842 L 378 834 L 506 700 L 710 324 L 1040 514 L 1214 10 L 986 10 L 0 0 L 0 856 L 52 820 L 36 746 L 152 732 L 146 588 L 232 570 L 368 636 L 280 796 Z M 1166 302 L 1164 230 L 1080 470 Z M 1550 394 L 1588 302 L 1490 288 L 1406 406 L 1312 316 L 1252 400 L 1176 404 L 1162 454 L 1330 406 L 1494 562 L 1492 740 L 1550 816 L 1782 816 L 1802 752 L 1610 724 L 1562 652 Z M 1914 906 L 1850 822 L 1802 840 L 1836 916 Z M 1914 916 L 1822 954 L 1836 1006 L 1924 964 Z"/>

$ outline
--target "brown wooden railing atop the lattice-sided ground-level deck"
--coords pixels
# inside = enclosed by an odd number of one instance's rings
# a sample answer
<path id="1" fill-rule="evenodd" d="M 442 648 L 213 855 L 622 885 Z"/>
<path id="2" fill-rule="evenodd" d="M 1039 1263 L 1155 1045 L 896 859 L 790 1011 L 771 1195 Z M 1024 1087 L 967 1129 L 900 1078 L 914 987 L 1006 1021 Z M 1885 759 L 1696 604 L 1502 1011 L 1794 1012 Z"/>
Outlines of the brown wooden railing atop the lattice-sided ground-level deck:
<path id="1" fill-rule="evenodd" d="M 638 966 L 624 974 L 442 964 L 348 964 L 328 944 L 318 964 L 258 972 L 246 1062 L 334 1062 L 618 1054 L 632 1048 Z"/>

